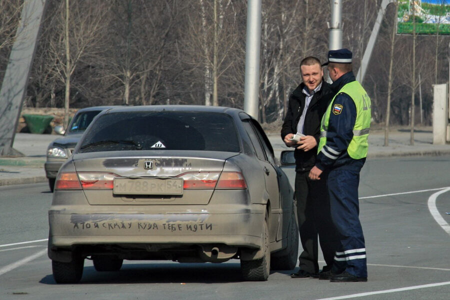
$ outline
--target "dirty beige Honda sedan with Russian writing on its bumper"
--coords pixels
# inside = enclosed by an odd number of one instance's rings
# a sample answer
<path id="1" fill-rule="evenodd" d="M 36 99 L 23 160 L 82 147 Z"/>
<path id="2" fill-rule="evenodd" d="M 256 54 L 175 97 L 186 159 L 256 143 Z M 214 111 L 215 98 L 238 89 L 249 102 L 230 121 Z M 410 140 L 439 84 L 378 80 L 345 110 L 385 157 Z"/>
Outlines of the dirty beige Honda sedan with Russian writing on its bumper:
<path id="1" fill-rule="evenodd" d="M 61 166 L 48 211 L 58 283 L 123 260 L 224 262 L 244 280 L 292 269 L 293 190 L 260 124 L 236 108 L 117 107 L 98 114 Z"/>

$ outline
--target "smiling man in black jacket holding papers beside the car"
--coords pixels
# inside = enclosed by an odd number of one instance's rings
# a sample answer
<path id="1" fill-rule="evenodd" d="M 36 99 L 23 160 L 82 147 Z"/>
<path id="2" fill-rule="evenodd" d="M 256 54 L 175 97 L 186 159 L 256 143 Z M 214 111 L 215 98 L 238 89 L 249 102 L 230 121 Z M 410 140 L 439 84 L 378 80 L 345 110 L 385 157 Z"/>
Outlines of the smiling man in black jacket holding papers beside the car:
<path id="1" fill-rule="evenodd" d="M 308 56 L 300 62 L 303 82 L 289 97 L 287 113 L 281 128 L 281 138 L 289 147 L 295 147 L 295 198 L 300 240 L 303 251 L 299 256 L 300 269 L 292 278 L 319 277 L 328 279 L 334 252 L 338 245 L 331 222 L 326 174 L 321 180 L 310 180 L 309 170 L 315 164 L 320 138 L 320 121 L 333 93 L 322 80 L 320 60 Z M 295 133 L 302 135 L 293 140 Z M 317 234 L 326 265 L 318 273 Z"/>

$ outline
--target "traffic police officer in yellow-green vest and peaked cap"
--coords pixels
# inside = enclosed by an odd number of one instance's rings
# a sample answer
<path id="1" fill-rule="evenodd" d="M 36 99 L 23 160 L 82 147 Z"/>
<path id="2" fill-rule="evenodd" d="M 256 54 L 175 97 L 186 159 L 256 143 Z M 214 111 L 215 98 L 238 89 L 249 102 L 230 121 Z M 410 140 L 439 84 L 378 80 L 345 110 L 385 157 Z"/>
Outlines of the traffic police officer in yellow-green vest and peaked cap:
<path id="1" fill-rule="evenodd" d="M 367 156 L 370 98 L 356 81 L 348 49 L 328 52 L 328 72 L 337 91 L 320 126 L 317 159 L 309 172 L 319 179 L 329 170 L 331 218 L 339 232 L 340 249 L 334 256 L 330 281 L 367 281 L 364 235 L 359 221 L 359 171 Z"/>

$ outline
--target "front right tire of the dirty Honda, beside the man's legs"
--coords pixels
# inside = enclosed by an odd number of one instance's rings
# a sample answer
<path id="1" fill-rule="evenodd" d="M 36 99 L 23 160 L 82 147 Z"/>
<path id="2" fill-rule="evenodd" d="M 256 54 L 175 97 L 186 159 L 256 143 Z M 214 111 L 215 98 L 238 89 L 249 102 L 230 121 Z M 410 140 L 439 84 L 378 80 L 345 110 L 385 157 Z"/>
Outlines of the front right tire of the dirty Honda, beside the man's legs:
<path id="1" fill-rule="evenodd" d="M 295 207 L 293 207 L 294 209 Z M 292 210 L 289 229 L 287 231 L 287 247 L 272 253 L 270 267 L 275 270 L 291 270 L 295 268 L 298 258 L 298 227 L 295 213 Z"/>

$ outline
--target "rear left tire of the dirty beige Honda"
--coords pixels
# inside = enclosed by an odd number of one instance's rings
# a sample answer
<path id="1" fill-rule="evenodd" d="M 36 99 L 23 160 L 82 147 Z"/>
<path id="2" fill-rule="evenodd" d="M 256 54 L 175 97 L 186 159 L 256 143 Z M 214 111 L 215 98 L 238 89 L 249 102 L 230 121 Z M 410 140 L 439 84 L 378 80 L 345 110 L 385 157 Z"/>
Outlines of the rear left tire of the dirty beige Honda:
<path id="1" fill-rule="evenodd" d="M 57 283 L 77 283 L 83 275 L 84 259 L 73 258 L 70 262 L 51 260 L 54 281 Z"/>

